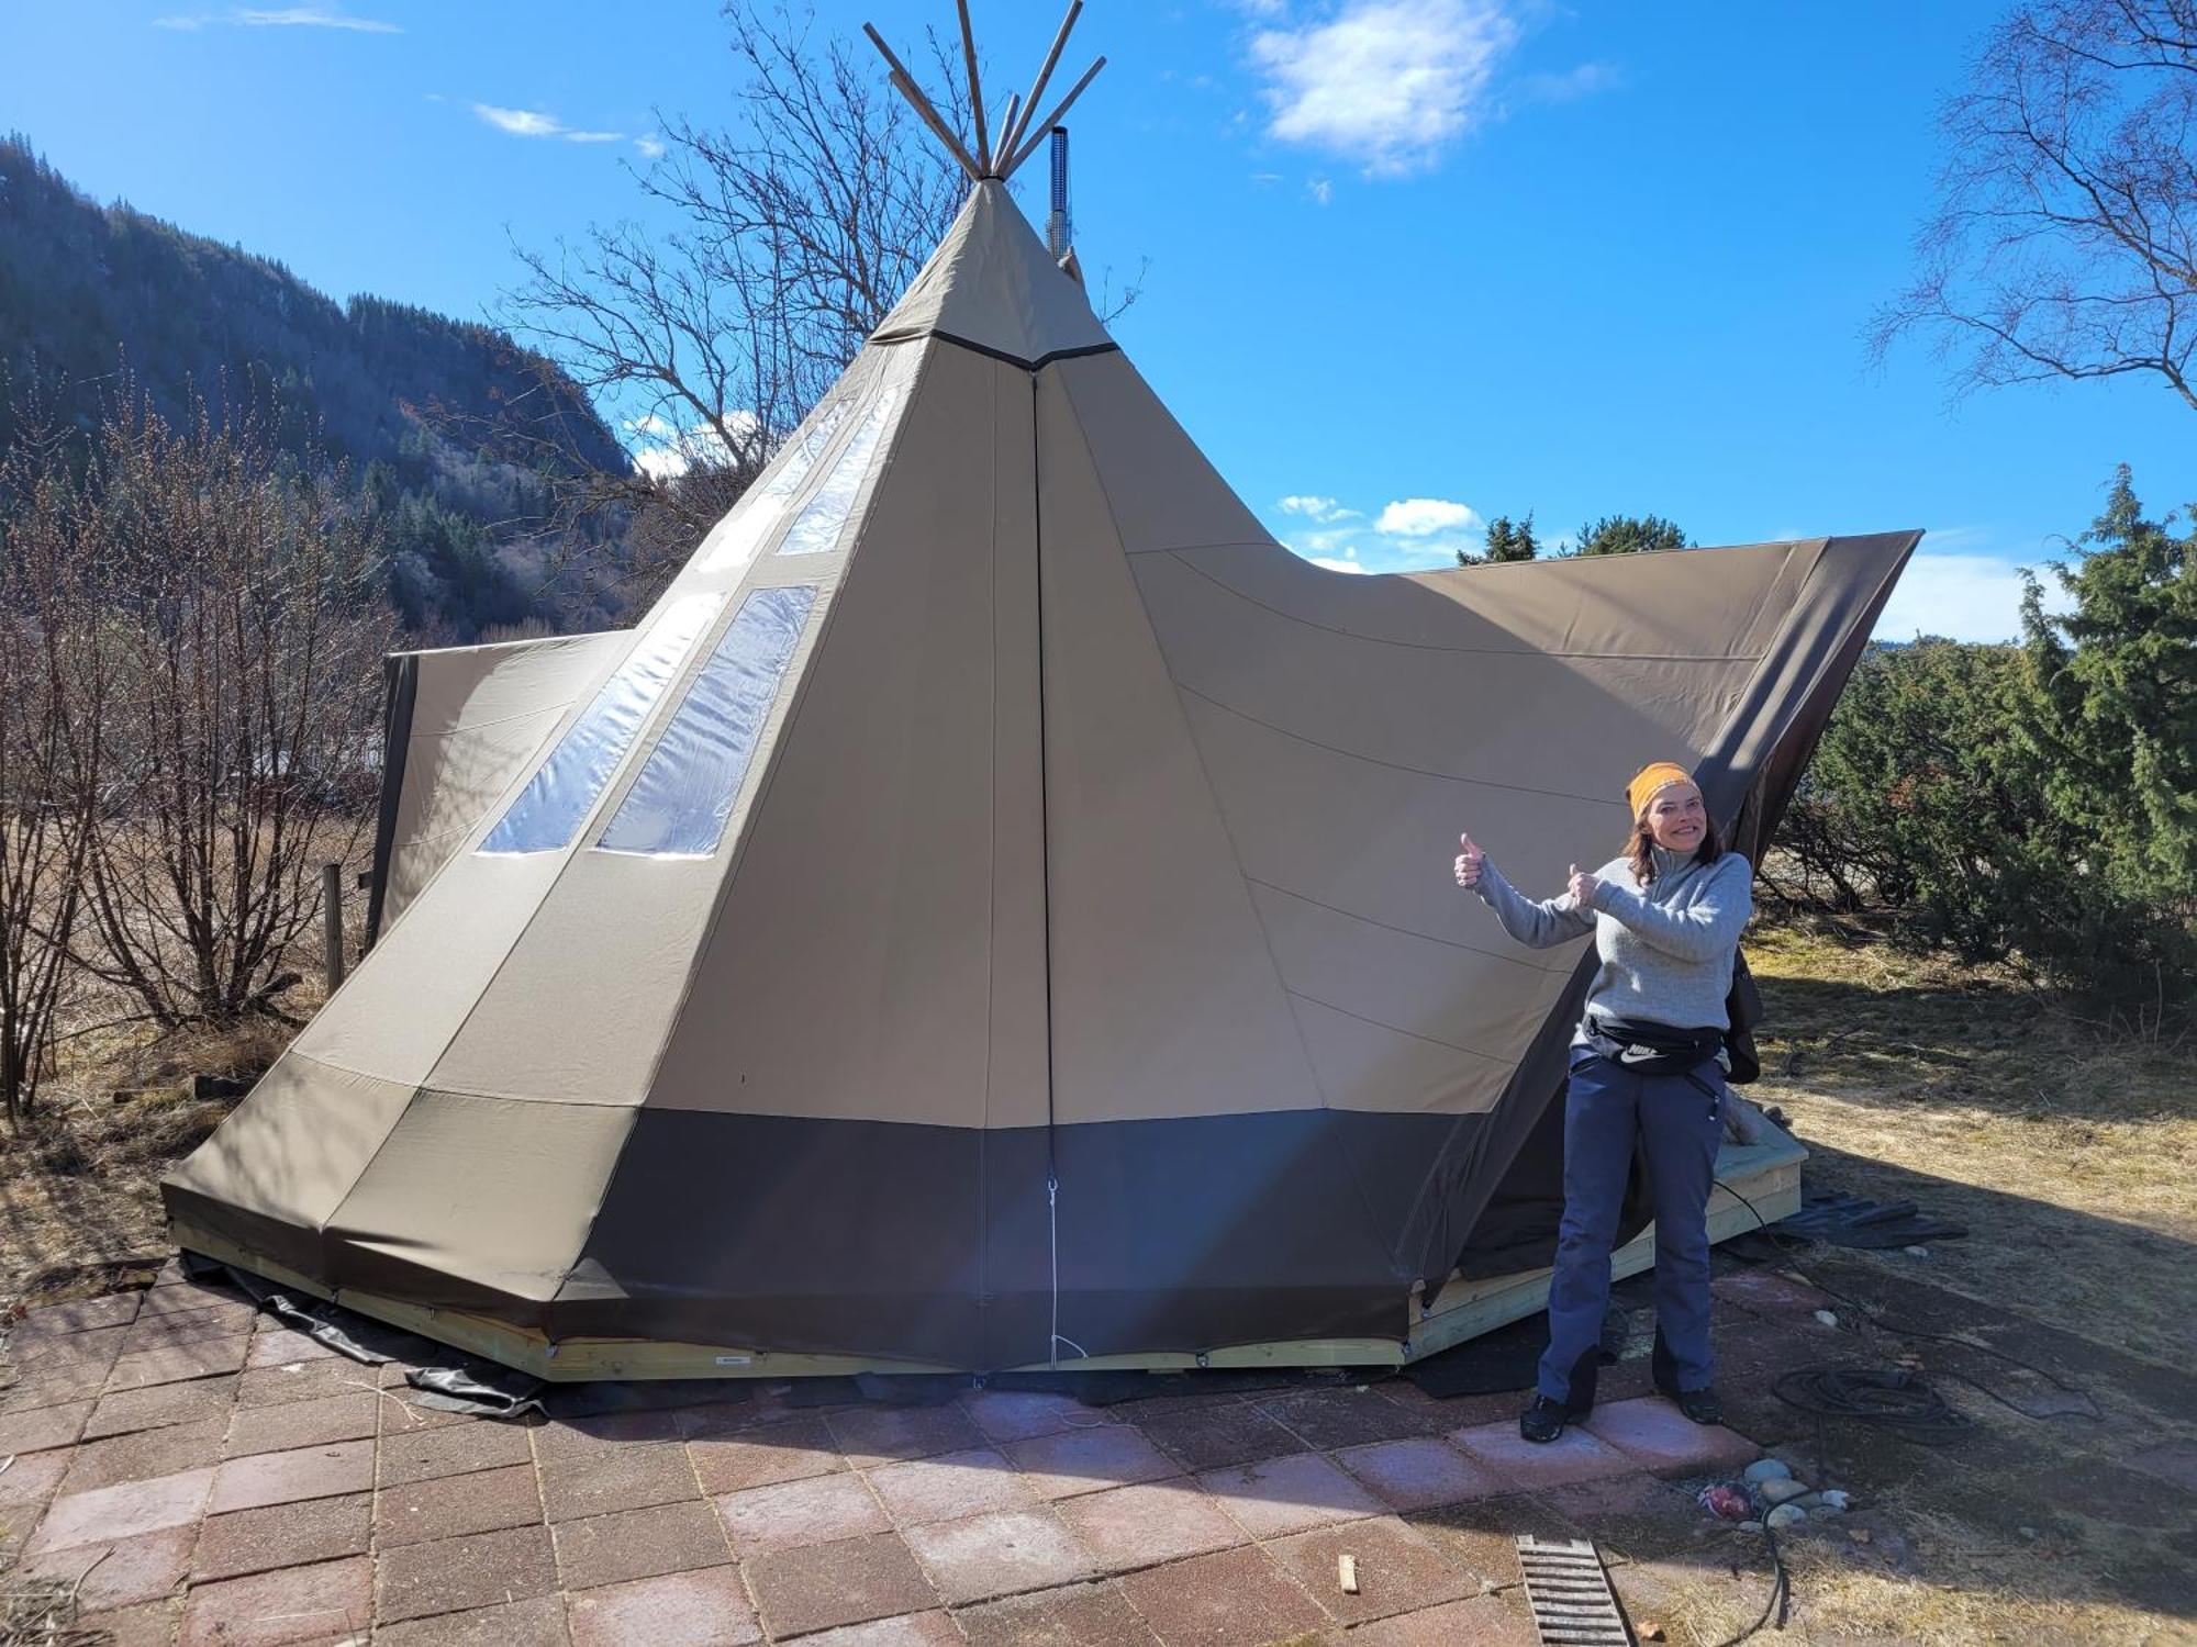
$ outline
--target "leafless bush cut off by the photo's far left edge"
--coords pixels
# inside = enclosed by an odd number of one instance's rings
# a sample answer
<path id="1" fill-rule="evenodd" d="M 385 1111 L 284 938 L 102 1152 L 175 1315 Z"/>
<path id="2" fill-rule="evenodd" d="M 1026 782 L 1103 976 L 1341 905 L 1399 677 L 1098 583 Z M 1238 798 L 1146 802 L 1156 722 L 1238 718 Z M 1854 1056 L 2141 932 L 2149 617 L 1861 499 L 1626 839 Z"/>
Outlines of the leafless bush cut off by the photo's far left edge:
<path id="1" fill-rule="evenodd" d="M 81 973 L 70 940 L 99 821 L 110 635 L 101 518 L 66 426 L 22 391 L 0 452 L 0 1109 L 20 1127 Z"/>

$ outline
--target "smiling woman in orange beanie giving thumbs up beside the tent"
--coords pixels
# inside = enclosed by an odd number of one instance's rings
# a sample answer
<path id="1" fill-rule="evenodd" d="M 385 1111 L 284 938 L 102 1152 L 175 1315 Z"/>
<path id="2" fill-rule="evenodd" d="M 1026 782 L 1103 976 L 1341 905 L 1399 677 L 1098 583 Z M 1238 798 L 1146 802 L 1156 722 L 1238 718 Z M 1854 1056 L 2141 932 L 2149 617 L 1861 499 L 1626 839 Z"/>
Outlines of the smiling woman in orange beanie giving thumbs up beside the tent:
<path id="1" fill-rule="evenodd" d="M 1722 1138 L 1725 997 L 1753 914 L 1753 867 L 1718 845 L 1700 788 L 1657 762 L 1628 786 L 1632 839 L 1595 874 L 1571 870 L 1558 898 L 1518 894 L 1459 837 L 1457 885 L 1481 896 L 1520 944 L 1595 935 L 1602 966 L 1571 1041 L 1564 1100 L 1564 1223 L 1549 1282 L 1549 1351 L 1527 1441 L 1555 1441 L 1595 1405 L 1610 1247 L 1635 1140 L 1654 1199 L 1654 1383 L 1694 1423 L 1718 1423 L 1709 1388 L 1709 1188 Z"/>

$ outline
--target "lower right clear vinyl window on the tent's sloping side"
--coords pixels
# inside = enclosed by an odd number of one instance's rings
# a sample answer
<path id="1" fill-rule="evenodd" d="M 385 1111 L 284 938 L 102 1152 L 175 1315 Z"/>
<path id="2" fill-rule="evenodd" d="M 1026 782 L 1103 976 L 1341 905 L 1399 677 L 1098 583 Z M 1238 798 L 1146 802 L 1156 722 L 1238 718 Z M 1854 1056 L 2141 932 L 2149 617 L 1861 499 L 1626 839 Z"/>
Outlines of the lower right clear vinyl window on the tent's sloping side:
<path id="1" fill-rule="evenodd" d="M 595 845 L 659 859 L 716 852 L 815 597 L 815 584 L 747 593 Z"/>

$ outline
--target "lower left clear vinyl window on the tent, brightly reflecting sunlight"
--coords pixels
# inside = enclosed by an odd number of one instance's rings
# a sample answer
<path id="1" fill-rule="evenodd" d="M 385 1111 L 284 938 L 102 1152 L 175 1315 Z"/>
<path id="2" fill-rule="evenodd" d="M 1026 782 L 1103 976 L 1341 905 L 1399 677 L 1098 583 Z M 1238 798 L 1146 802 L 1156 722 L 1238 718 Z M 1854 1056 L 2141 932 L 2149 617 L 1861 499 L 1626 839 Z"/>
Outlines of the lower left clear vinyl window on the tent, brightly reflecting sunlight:
<path id="1" fill-rule="evenodd" d="M 497 828 L 479 845 L 483 854 L 558 852 L 571 845 L 617 762 L 633 749 L 648 712 L 663 698 L 694 641 L 723 606 L 723 595 L 681 595 L 663 610 L 497 819 Z"/>

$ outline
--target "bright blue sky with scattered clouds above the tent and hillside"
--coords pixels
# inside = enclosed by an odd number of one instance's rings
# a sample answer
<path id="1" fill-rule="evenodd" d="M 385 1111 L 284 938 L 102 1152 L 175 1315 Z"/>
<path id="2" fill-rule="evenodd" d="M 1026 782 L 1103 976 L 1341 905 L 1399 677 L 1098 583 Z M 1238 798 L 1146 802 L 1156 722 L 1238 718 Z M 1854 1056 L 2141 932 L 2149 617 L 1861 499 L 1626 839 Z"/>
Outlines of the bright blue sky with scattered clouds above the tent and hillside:
<path id="1" fill-rule="evenodd" d="M 947 0 L 822 0 L 907 40 Z M 1090 0 L 1085 268 L 1116 334 L 1301 553 L 1443 564 L 1657 512 L 1700 542 L 1927 527 L 1881 635 L 1997 639 L 2114 463 L 2197 496 L 2124 380 L 1947 404 L 1861 332 L 1909 270 L 1933 114 L 1997 4 Z M 975 0 L 1000 86 L 1055 13 Z M 642 217 L 659 116 L 729 119 L 716 7 L 110 0 L 0 13 L 0 123 L 79 187 L 345 296 L 481 316 L 510 242 Z M 1035 173 L 1035 167 L 1033 167 Z M 1037 187 L 1037 184 L 1030 184 Z M 1030 206 L 1033 215 L 1037 206 Z"/>

